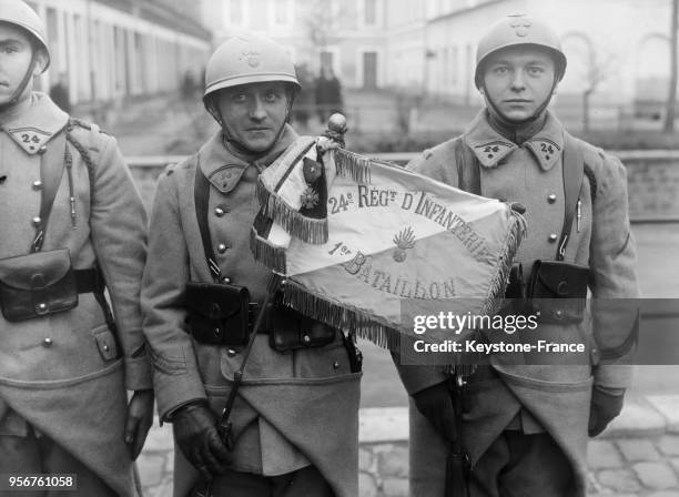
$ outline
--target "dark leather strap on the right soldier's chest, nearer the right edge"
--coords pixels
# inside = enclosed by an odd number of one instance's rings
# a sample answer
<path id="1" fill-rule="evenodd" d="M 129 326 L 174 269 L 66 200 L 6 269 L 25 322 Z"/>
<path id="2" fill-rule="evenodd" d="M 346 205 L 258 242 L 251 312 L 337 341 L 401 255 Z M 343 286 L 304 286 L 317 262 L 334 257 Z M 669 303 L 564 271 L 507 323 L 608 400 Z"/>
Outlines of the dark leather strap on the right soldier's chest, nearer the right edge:
<path id="1" fill-rule="evenodd" d="M 557 246 L 557 261 L 564 261 L 566 245 L 572 227 L 577 203 L 579 202 L 582 187 L 582 175 L 585 174 L 585 156 L 576 140 L 564 131 L 564 227 Z"/>

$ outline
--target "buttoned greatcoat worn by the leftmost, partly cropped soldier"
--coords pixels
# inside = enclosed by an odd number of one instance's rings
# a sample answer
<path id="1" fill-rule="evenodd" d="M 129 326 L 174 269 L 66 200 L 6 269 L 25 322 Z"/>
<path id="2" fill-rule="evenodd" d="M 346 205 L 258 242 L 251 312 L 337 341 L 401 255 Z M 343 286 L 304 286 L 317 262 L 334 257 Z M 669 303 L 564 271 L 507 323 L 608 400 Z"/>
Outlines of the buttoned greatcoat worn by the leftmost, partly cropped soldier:
<path id="1" fill-rule="evenodd" d="M 55 138 L 68 121 L 42 93 L 1 116 L 0 257 L 29 253 L 43 187 L 41 161 L 55 158 L 45 168 L 61 168 L 64 145 Z M 115 140 L 85 124 L 71 134 L 93 168 L 67 142 L 74 202 L 64 172 L 42 250 L 68 248 L 75 270 L 99 264 L 118 336 L 92 293 L 80 294 L 75 308 L 59 314 L 11 323 L 0 316 L 0 418 L 13 409 L 116 493 L 136 496 L 123 434 L 125 389 L 152 387 L 139 305 L 146 217 Z M 53 146 L 62 148 L 44 152 Z M 26 430 L 26 423 L 14 429 Z"/>

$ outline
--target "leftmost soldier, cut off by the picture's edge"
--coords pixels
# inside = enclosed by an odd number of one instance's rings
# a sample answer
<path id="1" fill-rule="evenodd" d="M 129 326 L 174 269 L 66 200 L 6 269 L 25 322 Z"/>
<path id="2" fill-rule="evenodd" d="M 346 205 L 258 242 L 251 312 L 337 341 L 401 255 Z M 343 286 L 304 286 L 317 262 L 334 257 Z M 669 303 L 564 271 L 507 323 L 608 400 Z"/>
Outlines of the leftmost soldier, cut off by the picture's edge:
<path id="1" fill-rule="evenodd" d="M 115 140 L 33 91 L 50 51 L 21 0 L 0 1 L 0 473 L 135 497 L 153 420 L 144 209 Z"/>

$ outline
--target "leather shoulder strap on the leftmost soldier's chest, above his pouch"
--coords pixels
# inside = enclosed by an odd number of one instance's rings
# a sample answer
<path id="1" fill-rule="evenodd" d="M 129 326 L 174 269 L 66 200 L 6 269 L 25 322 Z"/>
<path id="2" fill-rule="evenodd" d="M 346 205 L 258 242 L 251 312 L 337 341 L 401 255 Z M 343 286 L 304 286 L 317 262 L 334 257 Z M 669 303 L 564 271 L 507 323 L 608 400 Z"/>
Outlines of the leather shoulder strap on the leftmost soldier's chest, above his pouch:
<path id="1" fill-rule="evenodd" d="M 31 252 L 40 252 L 44 243 L 48 222 L 52 212 L 52 205 L 57 197 L 57 191 L 61 184 L 63 170 L 65 169 L 65 133 L 59 132 L 47 145 L 40 158 L 40 179 L 42 181 L 42 194 L 40 196 L 40 222 L 36 224 L 36 236 L 31 243 Z"/>

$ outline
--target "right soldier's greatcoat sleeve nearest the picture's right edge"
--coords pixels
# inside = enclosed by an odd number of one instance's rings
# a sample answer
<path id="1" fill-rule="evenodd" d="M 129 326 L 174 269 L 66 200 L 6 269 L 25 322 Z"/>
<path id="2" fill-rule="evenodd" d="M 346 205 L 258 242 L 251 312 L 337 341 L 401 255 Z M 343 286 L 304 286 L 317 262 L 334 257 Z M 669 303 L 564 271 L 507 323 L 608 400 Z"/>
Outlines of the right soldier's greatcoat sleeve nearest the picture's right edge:
<path id="1" fill-rule="evenodd" d="M 626 388 L 630 366 L 624 363 L 634 353 L 638 310 L 626 298 L 637 298 L 637 253 L 627 204 L 627 174 L 616 158 L 604 155 L 597 176 L 590 243 L 592 320 L 601 363 L 595 384 Z"/>

